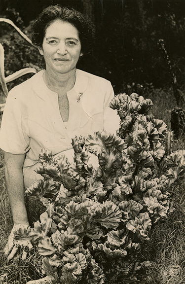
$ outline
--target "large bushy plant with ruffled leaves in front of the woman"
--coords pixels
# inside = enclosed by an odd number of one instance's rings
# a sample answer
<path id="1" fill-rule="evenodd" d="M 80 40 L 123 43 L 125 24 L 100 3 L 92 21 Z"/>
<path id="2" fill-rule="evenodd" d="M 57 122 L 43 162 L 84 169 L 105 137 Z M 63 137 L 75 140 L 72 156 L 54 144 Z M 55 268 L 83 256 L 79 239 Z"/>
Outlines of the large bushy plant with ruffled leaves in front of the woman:
<path id="1" fill-rule="evenodd" d="M 15 232 L 16 246 L 43 256 L 47 276 L 29 284 L 134 283 L 148 266 L 138 255 L 173 211 L 170 190 L 185 176 L 185 151 L 172 151 L 172 133 L 148 114 L 151 100 L 120 94 L 110 106 L 120 116 L 117 136 L 75 137 L 74 163 L 47 149 L 39 155 L 42 179 L 26 194 L 44 212 Z"/>

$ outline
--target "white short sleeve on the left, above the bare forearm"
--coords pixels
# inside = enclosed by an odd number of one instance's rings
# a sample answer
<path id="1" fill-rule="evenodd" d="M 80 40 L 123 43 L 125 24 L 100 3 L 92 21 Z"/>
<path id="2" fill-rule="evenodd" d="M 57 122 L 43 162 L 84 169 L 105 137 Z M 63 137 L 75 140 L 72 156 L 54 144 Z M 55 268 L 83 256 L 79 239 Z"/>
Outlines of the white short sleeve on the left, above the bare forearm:
<path id="1" fill-rule="evenodd" d="M 26 107 L 20 92 L 17 87 L 9 92 L 0 128 L 0 148 L 12 154 L 24 154 L 29 150 Z"/>

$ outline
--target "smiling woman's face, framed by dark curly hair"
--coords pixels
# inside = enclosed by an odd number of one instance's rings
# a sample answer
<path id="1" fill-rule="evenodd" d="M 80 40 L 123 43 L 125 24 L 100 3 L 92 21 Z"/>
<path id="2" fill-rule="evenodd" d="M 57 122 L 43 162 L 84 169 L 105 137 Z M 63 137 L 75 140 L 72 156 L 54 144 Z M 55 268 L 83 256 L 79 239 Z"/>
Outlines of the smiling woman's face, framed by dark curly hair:
<path id="1" fill-rule="evenodd" d="M 68 73 L 74 70 L 82 55 L 78 31 L 68 22 L 53 22 L 46 29 L 39 52 L 44 56 L 47 71 Z"/>

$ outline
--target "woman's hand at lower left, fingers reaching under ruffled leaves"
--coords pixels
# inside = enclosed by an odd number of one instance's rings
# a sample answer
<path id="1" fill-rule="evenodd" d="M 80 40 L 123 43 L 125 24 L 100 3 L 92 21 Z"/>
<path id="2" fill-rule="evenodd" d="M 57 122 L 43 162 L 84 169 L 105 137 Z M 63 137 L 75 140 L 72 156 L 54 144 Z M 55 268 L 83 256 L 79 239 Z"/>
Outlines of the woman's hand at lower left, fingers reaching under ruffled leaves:
<path id="1" fill-rule="evenodd" d="M 28 229 L 29 227 L 29 223 L 27 224 L 17 224 L 17 225 L 14 225 L 12 230 L 11 230 L 11 233 L 9 235 L 9 238 L 8 238 L 8 242 L 4 248 L 4 254 L 5 256 L 7 257 L 8 260 L 12 259 L 15 254 L 17 253 L 17 250 L 19 249 L 18 246 L 15 246 L 15 235 L 14 233 L 19 229 L 19 228 L 23 228 L 25 230 Z M 22 254 L 22 259 L 24 260 L 27 256 L 27 252 L 25 250 L 23 250 L 23 254 Z"/>

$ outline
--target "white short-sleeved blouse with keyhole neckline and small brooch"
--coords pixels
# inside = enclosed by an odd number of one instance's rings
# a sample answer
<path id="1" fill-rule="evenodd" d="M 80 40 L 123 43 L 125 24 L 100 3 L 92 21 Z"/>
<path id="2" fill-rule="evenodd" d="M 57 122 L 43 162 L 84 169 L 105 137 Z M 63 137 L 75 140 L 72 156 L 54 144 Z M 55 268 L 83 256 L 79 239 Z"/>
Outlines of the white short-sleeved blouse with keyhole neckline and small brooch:
<path id="1" fill-rule="evenodd" d="M 76 70 L 74 87 L 67 93 L 69 120 L 64 123 L 58 94 L 47 88 L 43 72 L 14 87 L 4 107 L 0 148 L 13 154 L 26 153 L 24 167 L 37 163 L 43 147 L 55 155 L 72 149 L 75 135 L 103 129 L 115 134 L 119 128 L 117 112 L 109 107 L 114 97 L 109 81 Z"/>

